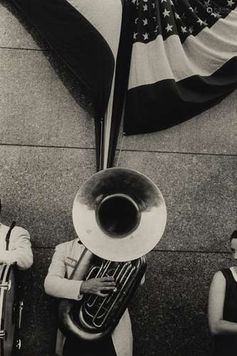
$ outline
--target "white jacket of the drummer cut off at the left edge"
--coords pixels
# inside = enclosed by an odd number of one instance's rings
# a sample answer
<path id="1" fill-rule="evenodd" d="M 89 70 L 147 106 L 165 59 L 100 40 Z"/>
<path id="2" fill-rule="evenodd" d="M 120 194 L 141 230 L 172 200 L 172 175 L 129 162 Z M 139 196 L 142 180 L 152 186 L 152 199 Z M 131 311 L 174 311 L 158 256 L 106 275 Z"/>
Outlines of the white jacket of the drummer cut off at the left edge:
<path id="1" fill-rule="evenodd" d="M 16 262 L 20 269 L 31 267 L 33 263 L 33 253 L 31 251 L 28 231 L 20 226 L 15 226 L 11 230 L 9 250 L 6 251 L 6 234 L 8 231 L 9 226 L 0 224 L 0 263 Z"/>

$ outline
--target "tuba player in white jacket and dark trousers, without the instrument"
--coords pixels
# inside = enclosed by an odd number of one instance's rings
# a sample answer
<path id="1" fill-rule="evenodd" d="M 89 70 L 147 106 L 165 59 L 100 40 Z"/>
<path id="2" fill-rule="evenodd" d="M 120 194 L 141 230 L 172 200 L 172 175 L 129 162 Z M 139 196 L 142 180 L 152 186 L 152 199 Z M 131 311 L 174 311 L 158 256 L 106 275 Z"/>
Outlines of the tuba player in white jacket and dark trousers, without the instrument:
<path id="1" fill-rule="evenodd" d="M 93 278 L 88 281 L 68 279 L 84 248 L 79 239 L 56 246 L 44 283 L 46 293 L 57 298 L 80 300 L 83 293 L 100 295 L 115 288 L 112 278 Z M 60 356 L 132 356 L 132 326 L 128 310 L 125 310 L 112 335 L 101 342 L 83 342 L 75 337 L 65 339 L 58 330 L 56 353 Z"/>

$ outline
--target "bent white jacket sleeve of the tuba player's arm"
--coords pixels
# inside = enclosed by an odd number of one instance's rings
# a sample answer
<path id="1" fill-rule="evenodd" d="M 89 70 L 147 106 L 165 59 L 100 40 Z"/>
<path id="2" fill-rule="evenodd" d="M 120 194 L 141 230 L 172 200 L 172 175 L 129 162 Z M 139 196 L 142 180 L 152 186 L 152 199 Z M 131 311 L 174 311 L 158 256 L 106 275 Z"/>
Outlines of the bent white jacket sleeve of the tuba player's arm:
<path id="1" fill-rule="evenodd" d="M 51 266 L 48 268 L 48 275 L 44 282 L 46 293 L 57 298 L 67 298 L 80 300 L 80 285 L 83 281 L 73 281 L 65 278 L 65 259 L 67 250 L 65 244 L 56 246 Z"/>

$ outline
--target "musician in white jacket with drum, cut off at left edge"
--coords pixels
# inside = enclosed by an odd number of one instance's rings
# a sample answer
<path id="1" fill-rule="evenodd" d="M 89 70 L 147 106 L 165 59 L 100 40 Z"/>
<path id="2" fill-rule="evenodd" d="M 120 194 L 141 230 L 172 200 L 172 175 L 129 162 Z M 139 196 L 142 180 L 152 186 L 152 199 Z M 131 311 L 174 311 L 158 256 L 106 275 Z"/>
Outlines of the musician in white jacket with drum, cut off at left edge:
<path id="1" fill-rule="evenodd" d="M 0 199 L 1 212 L 1 199 Z M 16 332 L 21 328 L 23 301 L 16 287 L 16 269 L 30 268 L 33 263 L 28 231 L 16 226 L 6 226 L 0 221 L 0 355 L 11 356 L 21 347 Z M 18 336 L 18 335 L 17 335 Z"/>

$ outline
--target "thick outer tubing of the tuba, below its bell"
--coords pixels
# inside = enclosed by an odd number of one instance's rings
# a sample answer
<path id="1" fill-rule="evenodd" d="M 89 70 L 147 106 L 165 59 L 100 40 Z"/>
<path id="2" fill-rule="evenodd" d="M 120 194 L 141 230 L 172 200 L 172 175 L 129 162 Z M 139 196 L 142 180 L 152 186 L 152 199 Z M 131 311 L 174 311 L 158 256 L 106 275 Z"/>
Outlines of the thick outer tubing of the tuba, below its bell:
<path id="1" fill-rule="evenodd" d="M 90 268 L 95 266 L 93 263 L 95 263 L 96 260 L 100 261 L 101 258 L 98 258 L 98 256 L 95 256 L 92 252 L 85 248 L 70 279 L 76 281 L 85 280 L 88 274 L 90 274 L 90 272 L 88 273 Z M 125 313 L 127 304 L 130 302 L 130 299 L 134 295 L 139 283 L 142 281 L 142 277 L 144 276 L 147 266 L 146 258 L 144 256 L 132 262 L 136 263 L 139 267 L 136 269 L 134 268 L 135 275 L 133 276 L 133 279 L 129 281 L 128 288 L 122 291 L 119 300 L 116 300 L 117 303 L 112 303 L 109 317 L 110 322 L 107 323 L 104 328 L 97 329 L 88 325 L 85 320 L 83 320 L 82 310 L 83 305 L 85 304 L 84 298 L 88 300 L 90 295 L 84 295 L 83 299 L 78 301 L 69 299 L 63 299 L 60 301 L 58 306 L 58 327 L 63 335 L 78 337 L 84 341 L 96 341 L 100 340 L 102 337 L 105 337 L 105 335 L 112 333 L 112 330 L 115 328 L 117 323 L 119 323 L 122 314 Z M 122 262 L 120 265 L 125 266 L 125 263 Z M 97 297 L 96 295 L 93 295 L 93 297 L 95 299 L 100 298 L 104 300 L 105 298 L 110 298 L 110 295 L 107 297 Z"/>

